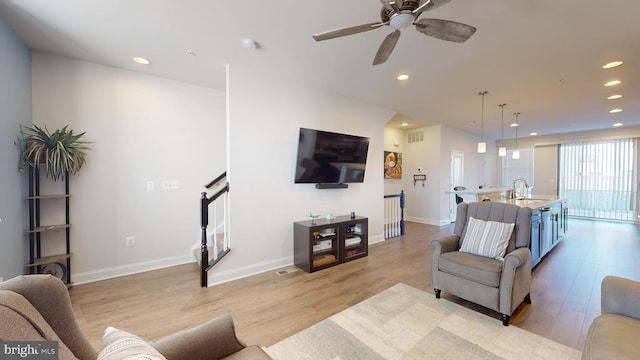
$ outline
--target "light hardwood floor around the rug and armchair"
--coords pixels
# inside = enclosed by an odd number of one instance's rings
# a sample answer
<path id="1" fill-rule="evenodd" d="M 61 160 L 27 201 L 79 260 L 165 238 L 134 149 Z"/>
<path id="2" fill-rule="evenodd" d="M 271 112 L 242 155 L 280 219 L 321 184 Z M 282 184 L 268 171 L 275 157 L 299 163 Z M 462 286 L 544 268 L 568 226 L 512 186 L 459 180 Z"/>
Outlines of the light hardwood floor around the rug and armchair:
<path id="1" fill-rule="evenodd" d="M 96 349 L 107 326 L 151 341 L 227 312 L 241 339 L 269 346 L 398 282 L 433 293 L 431 240 L 451 231 L 450 225 L 408 223 L 407 235 L 370 246 L 368 257 L 313 274 L 274 270 L 203 289 L 194 263 L 77 285 L 70 294 Z M 581 349 L 600 313 L 601 279 L 640 281 L 638 259 L 639 226 L 570 219 L 568 235 L 534 269 L 533 302 L 516 310 L 512 326 Z M 442 301 L 500 321 L 497 313 L 451 295 L 443 293 Z"/>

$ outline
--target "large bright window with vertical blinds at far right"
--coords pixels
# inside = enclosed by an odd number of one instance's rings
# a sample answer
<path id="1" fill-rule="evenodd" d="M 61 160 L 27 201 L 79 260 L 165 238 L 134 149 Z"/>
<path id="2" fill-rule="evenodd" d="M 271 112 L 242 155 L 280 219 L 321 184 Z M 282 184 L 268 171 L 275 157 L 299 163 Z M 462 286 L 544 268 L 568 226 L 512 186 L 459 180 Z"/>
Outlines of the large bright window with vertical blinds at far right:
<path id="1" fill-rule="evenodd" d="M 632 221 L 636 210 L 636 139 L 560 145 L 559 194 L 569 215 Z"/>

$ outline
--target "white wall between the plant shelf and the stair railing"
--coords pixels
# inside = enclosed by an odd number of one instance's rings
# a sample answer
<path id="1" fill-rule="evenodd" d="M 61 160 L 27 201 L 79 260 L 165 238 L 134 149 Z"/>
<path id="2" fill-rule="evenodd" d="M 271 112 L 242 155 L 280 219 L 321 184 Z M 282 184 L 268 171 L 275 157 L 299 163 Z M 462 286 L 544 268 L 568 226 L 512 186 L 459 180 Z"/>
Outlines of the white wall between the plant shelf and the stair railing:
<path id="1" fill-rule="evenodd" d="M 192 261 L 200 193 L 225 170 L 225 94 L 44 53 L 32 70 L 33 122 L 93 142 L 71 179 L 72 281 Z"/>

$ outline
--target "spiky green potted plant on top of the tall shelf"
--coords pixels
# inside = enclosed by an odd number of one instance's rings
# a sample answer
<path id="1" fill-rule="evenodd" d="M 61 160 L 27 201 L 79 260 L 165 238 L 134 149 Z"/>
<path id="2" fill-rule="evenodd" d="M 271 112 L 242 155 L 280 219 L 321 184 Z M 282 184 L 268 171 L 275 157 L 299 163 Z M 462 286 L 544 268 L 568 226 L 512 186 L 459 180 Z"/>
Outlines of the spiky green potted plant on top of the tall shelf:
<path id="1" fill-rule="evenodd" d="M 89 142 L 81 140 L 85 133 L 74 134 L 68 127 L 50 133 L 46 127 L 22 126 L 24 148 L 20 154 L 20 170 L 44 165 L 46 175 L 53 180 L 61 179 L 67 171 L 77 173 L 86 162 Z"/>

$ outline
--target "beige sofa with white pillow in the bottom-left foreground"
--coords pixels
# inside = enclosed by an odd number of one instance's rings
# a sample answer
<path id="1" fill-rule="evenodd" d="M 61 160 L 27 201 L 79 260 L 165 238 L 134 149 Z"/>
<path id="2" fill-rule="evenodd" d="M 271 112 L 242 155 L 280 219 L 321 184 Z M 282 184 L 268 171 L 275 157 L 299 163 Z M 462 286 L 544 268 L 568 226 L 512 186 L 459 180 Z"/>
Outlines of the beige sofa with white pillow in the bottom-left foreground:
<path id="1" fill-rule="evenodd" d="M 145 358 L 150 359 L 270 359 L 260 347 L 238 340 L 229 315 L 151 344 L 114 332 L 113 343 L 105 344 L 103 338 L 98 354 L 80 332 L 66 286 L 51 275 L 18 276 L 0 283 L 0 319 L 1 341 L 58 341 L 60 359 L 122 359 L 125 350 L 148 351 Z"/>

